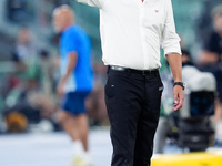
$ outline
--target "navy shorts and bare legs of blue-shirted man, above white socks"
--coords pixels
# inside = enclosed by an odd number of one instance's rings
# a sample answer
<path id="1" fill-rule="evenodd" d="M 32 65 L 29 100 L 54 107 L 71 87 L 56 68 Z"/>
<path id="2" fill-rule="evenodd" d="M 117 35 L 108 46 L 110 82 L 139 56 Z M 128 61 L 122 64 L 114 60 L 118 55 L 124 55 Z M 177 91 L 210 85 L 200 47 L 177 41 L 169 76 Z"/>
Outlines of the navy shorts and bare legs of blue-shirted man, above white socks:
<path id="1" fill-rule="evenodd" d="M 62 108 L 59 112 L 59 121 L 73 141 L 81 141 L 84 149 L 88 149 L 88 118 L 84 100 L 89 92 L 71 92 L 65 94 Z"/>

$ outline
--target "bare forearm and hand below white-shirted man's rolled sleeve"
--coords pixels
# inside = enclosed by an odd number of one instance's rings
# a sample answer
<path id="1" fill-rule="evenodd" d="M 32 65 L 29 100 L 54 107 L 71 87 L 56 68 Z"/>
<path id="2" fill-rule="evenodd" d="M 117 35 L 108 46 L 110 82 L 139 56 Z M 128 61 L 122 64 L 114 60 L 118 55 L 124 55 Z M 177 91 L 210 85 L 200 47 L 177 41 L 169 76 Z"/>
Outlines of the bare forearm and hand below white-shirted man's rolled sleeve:
<path id="1" fill-rule="evenodd" d="M 182 61 L 181 55 L 178 53 L 171 53 L 167 55 L 168 62 L 170 64 L 174 82 L 182 82 Z M 173 111 L 182 107 L 184 96 L 183 89 L 180 85 L 173 87 L 174 105 Z"/>

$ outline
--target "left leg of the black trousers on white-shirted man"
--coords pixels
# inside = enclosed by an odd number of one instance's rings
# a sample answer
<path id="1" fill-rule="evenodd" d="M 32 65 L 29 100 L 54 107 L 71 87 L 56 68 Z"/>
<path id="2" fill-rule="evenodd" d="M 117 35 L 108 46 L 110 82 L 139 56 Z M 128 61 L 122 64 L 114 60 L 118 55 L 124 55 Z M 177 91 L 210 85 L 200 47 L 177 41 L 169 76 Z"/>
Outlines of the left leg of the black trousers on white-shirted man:
<path id="1" fill-rule="evenodd" d="M 111 123 L 113 155 L 111 166 L 132 166 L 137 124 L 144 94 L 141 81 L 125 72 L 110 71 L 105 85 L 105 104 Z"/>

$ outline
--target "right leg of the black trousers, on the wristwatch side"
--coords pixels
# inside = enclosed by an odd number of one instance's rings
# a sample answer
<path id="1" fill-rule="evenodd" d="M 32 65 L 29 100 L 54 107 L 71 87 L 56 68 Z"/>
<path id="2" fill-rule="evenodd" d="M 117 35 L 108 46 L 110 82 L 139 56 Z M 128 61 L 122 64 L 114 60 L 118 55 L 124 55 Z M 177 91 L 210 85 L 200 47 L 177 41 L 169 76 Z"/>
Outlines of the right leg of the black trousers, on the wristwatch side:
<path id="1" fill-rule="evenodd" d="M 160 115 L 162 82 L 159 74 L 147 75 L 143 110 L 138 123 L 133 166 L 150 166 L 153 138 Z"/>

